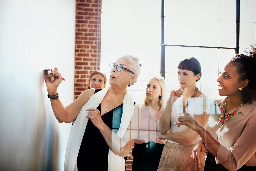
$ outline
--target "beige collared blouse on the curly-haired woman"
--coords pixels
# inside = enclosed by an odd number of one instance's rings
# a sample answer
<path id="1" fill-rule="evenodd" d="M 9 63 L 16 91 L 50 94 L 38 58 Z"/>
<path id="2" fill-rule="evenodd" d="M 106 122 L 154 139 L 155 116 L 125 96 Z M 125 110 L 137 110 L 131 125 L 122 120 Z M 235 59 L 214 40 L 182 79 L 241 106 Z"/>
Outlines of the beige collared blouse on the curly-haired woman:
<path id="1" fill-rule="evenodd" d="M 219 122 L 220 106 L 225 99 L 215 100 L 205 129 L 220 142 L 215 157 L 217 164 L 237 170 L 244 164 L 256 165 L 256 102 L 241 106 L 230 120 Z M 227 111 L 226 111 L 227 112 Z"/>

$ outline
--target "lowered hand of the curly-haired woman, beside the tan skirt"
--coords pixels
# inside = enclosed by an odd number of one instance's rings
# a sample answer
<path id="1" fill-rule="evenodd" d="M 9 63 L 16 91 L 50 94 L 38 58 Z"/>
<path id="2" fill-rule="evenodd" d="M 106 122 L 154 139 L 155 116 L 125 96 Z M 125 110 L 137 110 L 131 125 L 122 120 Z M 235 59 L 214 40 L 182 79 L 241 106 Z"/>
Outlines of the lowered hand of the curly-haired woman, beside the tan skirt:
<path id="1" fill-rule="evenodd" d="M 207 155 L 205 153 L 205 146 L 202 140 L 198 140 L 196 142 L 195 147 L 191 154 L 193 161 L 198 165 L 198 167 L 201 167 L 200 153 Z"/>

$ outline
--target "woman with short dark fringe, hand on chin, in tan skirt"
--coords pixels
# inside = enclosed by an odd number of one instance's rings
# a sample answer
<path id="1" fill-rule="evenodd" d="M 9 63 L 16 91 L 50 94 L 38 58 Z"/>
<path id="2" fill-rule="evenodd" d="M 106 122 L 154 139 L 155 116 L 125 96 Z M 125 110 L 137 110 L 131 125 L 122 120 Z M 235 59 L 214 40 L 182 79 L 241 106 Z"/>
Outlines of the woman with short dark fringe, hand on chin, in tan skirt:
<path id="1" fill-rule="evenodd" d="M 161 133 L 159 138 L 167 139 L 158 171 L 200 171 L 202 168 L 198 168 L 190 159 L 199 135 L 186 126 L 178 128 L 174 125 L 178 117 L 184 116 L 185 112 L 191 113 L 203 126 L 208 120 L 210 100 L 196 87 L 196 82 L 201 77 L 199 61 L 194 57 L 180 61 L 177 76 L 180 88 L 171 91 L 166 108 L 158 121 Z M 201 165 L 204 165 L 205 156 L 200 154 L 200 157 Z"/>

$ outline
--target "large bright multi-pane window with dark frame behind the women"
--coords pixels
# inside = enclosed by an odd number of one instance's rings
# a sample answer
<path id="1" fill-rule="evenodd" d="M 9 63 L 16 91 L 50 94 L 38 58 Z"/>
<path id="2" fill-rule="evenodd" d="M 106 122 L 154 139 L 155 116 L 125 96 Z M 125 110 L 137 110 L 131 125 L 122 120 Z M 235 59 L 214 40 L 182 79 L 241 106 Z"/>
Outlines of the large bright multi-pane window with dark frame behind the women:
<path id="1" fill-rule="evenodd" d="M 179 87 L 179 61 L 195 57 L 202 67 L 199 90 L 217 99 L 219 71 L 256 41 L 255 6 L 254 0 L 102 0 L 101 70 L 108 75 L 108 64 L 125 54 L 139 57 L 142 72 L 128 90 L 142 103 L 148 78 L 164 75 L 169 93 Z"/>

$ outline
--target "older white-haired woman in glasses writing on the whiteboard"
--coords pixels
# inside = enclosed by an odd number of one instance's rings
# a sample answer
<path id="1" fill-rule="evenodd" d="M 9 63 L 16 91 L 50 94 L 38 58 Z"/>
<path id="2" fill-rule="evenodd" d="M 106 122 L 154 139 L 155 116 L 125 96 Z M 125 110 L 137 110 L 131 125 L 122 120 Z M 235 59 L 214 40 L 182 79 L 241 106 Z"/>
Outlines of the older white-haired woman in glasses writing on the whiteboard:
<path id="1" fill-rule="evenodd" d="M 110 63 L 110 87 L 84 91 L 63 107 L 54 97 L 61 80 L 45 75 L 47 91 L 59 122 L 73 122 L 67 144 L 64 170 L 125 170 L 124 157 L 131 151 L 138 133 L 141 109 L 134 104 L 127 86 L 140 74 L 136 57 L 124 56 Z"/>

